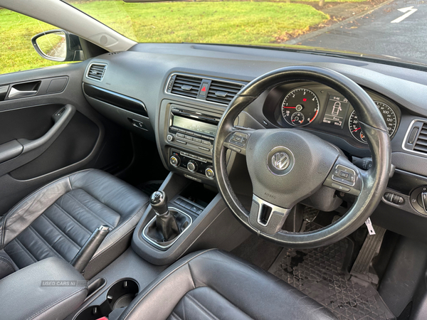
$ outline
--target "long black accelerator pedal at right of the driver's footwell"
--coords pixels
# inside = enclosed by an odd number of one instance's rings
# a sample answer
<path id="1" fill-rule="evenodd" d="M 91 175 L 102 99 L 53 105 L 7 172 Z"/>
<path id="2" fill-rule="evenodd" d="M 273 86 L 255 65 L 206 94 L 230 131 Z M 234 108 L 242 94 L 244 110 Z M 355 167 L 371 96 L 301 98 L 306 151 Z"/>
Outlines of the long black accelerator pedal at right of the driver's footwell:
<path id="1" fill-rule="evenodd" d="M 362 249 L 357 255 L 356 261 L 350 271 L 353 277 L 357 277 L 371 284 L 378 284 L 379 278 L 375 273 L 370 272 L 372 260 L 379 253 L 386 229 L 374 225 L 375 235 L 367 235 L 364 240 Z"/>

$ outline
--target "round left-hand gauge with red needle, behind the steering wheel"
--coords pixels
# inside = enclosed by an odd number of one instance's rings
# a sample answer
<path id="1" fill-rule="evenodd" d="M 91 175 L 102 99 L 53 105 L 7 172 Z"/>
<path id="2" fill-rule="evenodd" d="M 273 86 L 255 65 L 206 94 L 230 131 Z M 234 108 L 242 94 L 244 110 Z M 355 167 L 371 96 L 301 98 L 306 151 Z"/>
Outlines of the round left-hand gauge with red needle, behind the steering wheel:
<path id="1" fill-rule="evenodd" d="M 282 103 L 283 119 L 292 126 L 310 124 L 319 113 L 319 100 L 310 90 L 298 88 L 286 95 Z"/>

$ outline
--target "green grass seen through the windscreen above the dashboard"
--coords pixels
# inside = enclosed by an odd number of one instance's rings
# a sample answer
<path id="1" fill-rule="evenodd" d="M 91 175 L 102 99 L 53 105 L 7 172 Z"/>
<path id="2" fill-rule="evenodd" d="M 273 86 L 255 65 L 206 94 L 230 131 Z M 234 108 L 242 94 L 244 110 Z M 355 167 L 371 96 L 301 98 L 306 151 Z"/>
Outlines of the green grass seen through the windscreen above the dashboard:
<path id="1" fill-rule="evenodd" d="M 328 19 L 312 6 L 274 2 L 93 1 L 75 6 L 138 42 L 274 43 Z"/>

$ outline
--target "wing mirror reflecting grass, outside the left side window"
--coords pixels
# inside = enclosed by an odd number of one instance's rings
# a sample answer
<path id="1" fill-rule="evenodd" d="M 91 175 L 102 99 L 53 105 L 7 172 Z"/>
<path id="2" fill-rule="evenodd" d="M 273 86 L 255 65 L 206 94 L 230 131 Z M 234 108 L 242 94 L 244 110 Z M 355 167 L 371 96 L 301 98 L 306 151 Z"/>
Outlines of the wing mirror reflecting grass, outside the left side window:
<path id="1" fill-rule="evenodd" d="M 42 58 L 52 61 L 85 60 L 80 38 L 65 30 L 50 30 L 31 38 L 34 49 Z"/>

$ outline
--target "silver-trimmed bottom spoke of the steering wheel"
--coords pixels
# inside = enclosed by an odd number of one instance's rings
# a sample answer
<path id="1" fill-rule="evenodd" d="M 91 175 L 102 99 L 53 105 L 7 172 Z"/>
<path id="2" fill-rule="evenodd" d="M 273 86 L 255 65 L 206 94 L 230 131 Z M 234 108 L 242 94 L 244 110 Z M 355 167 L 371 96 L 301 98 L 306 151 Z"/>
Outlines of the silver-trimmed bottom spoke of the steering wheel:
<path id="1" fill-rule="evenodd" d="M 249 223 L 261 233 L 274 235 L 282 229 L 291 210 L 275 206 L 253 194 Z"/>

